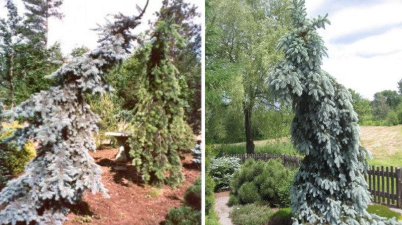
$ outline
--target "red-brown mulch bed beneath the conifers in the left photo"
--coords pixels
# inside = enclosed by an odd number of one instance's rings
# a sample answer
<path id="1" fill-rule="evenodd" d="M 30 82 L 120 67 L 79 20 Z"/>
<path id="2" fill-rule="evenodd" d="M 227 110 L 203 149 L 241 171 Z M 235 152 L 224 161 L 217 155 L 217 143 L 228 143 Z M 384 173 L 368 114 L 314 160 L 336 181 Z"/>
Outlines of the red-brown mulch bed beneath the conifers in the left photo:
<path id="1" fill-rule="evenodd" d="M 187 187 L 193 185 L 201 175 L 201 169 L 195 165 L 192 155 L 186 154 L 183 174 L 186 180 L 179 188 L 164 186 L 158 189 L 146 185 L 141 175 L 129 163 L 126 171 L 116 171 L 113 161 L 117 149 L 99 150 L 91 153 L 102 168 L 102 182 L 109 190 L 110 199 L 103 195 L 84 194 L 82 203 L 72 209 L 65 225 L 77 225 L 84 221 L 97 225 L 157 225 L 163 224 L 165 216 L 173 207 L 184 204 L 183 198 Z"/>

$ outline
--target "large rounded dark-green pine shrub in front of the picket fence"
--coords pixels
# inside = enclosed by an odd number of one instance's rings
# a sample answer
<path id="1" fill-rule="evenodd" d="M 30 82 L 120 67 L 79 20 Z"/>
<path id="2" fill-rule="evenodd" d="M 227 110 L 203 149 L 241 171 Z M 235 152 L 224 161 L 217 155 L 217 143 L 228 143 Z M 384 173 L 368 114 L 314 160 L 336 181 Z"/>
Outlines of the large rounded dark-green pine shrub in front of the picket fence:
<path id="1" fill-rule="evenodd" d="M 282 165 L 281 159 L 255 162 L 250 158 L 233 175 L 230 184 L 233 197 L 229 199 L 229 204 L 236 204 L 237 201 L 239 204 L 279 202 L 286 206 L 289 204 L 293 175 Z"/>

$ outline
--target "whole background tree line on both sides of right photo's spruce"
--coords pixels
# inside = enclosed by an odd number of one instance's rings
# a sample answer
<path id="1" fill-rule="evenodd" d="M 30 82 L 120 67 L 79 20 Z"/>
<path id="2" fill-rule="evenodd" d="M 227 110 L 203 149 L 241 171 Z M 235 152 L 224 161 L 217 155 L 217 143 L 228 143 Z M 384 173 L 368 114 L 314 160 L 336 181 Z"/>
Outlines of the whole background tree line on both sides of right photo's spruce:
<path id="1" fill-rule="evenodd" d="M 289 136 L 291 109 L 271 98 L 266 79 L 283 56 L 276 51 L 289 29 L 288 0 L 206 0 L 206 143 L 246 142 Z M 385 90 L 369 101 L 350 90 L 361 125 L 402 124 L 399 93 Z"/>

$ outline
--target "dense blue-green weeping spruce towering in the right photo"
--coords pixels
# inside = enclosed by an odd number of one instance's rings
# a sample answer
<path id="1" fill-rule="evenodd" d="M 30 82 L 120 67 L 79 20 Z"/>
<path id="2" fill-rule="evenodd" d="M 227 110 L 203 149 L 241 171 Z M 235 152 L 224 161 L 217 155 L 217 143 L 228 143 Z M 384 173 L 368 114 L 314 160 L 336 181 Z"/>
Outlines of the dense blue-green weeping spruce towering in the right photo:
<path id="1" fill-rule="evenodd" d="M 293 224 L 398 224 L 367 212 L 371 155 L 360 145 L 350 93 L 321 69 L 327 53 L 317 29 L 329 24 L 327 15 L 309 19 L 304 0 L 292 2 L 293 28 L 279 40 L 284 59 L 268 85 L 275 99 L 292 105 L 292 141 L 305 154 L 291 188 Z"/>

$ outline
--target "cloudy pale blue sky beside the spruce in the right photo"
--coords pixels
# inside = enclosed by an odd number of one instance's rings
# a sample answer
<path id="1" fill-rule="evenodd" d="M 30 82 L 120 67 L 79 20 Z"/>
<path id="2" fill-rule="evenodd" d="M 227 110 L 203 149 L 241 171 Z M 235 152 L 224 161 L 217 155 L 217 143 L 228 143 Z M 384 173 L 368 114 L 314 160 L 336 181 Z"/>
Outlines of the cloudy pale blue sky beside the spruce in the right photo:
<path id="1" fill-rule="evenodd" d="M 328 48 L 323 69 L 347 88 L 373 99 L 397 90 L 402 79 L 401 0 L 306 0 L 310 16 L 325 15 L 331 25 L 319 33 Z"/>

